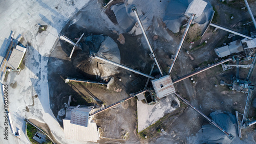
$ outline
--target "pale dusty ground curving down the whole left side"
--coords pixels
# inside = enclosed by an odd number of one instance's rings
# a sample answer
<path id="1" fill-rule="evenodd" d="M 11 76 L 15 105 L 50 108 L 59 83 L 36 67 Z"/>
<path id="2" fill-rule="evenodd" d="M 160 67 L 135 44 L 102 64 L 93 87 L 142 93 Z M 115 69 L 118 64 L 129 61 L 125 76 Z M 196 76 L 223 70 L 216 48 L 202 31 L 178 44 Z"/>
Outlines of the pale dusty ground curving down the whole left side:
<path id="1" fill-rule="evenodd" d="M 9 110 L 13 119 L 15 131 L 21 130 L 21 136 L 15 138 L 9 133 L 8 140 L 3 139 L 0 131 L 0 143 L 30 143 L 25 134 L 24 119 L 34 118 L 46 123 L 60 143 L 80 143 L 79 141 L 64 138 L 63 129 L 54 117 L 49 105 L 49 90 L 47 77 L 48 56 L 62 27 L 71 16 L 86 5 L 88 1 L 1 1 L 0 2 L 0 44 L 8 39 L 10 32 L 22 34 L 25 41 L 31 46 L 25 56 L 25 69 L 16 75 L 12 71 L 6 84 L 15 83 L 16 87 L 9 86 Z M 58 7 L 56 9 L 55 7 Z M 37 24 L 48 25 L 47 31 L 37 33 Z M 1 53 L 4 49 L 0 49 Z M 2 56 L 2 55 L 1 55 Z M 3 56 L 2 56 L 3 57 Z M 2 88 L 2 87 L 1 87 Z M 34 98 L 34 95 L 38 98 Z M 3 114 L 3 100 L 0 100 Z M 29 112 L 25 107 L 29 108 Z M 4 118 L 0 118 L 0 128 L 3 129 Z M 10 127 L 9 127 L 10 132 Z"/>

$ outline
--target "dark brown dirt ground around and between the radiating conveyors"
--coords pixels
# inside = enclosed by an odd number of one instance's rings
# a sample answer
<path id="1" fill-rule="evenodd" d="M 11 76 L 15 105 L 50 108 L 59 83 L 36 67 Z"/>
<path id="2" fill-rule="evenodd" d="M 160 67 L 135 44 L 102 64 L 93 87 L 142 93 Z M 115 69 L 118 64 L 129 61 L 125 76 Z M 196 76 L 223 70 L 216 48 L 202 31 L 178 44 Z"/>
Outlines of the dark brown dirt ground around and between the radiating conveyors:
<path id="1" fill-rule="evenodd" d="M 231 26 L 233 30 L 238 30 L 239 32 L 249 35 L 248 29 L 251 29 L 251 25 L 241 27 L 242 23 L 244 21 L 248 21 L 248 18 L 250 18 L 246 11 L 242 11 L 240 13 L 241 10 L 232 8 L 229 5 L 221 4 L 216 1 L 211 1 L 211 3 L 219 13 L 219 20 L 217 22 L 219 25 L 227 28 L 230 28 Z M 233 20 L 228 19 L 225 15 L 228 15 L 229 13 L 226 14 L 226 11 L 229 11 L 230 14 L 236 14 L 236 17 Z M 86 17 L 92 12 L 90 10 L 82 10 L 78 12 L 78 14 L 79 13 L 82 14 L 82 18 L 86 19 Z M 77 17 L 74 17 L 74 19 L 76 18 Z M 104 23 L 105 21 L 98 18 L 98 22 Z M 147 31 L 148 37 L 153 38 L 153 30 L 164 29 L 162 23 L 160 23 L 160 25 L 162 27 L 159 28 L 151 26 L 151 29 Z M 196 28 L 196 26 L 194 27 Z M 72 25 L 68 23 L 66 28 L 61 32 L 61 34 L 69 37 L 70 39 L 75 39 L 82 33 L 85 35 L 103 34 L 111 37 L 119 47 L 122 64 L 141 70 L 147 74 L 150 73 L 151 64 L 154 62 L 154 60 L 148 56 L 150 51 L 147 49 L 145 40 L 143 40 L 144 37 L 142 35 L 133 36 L 123 34 L 125 43 L 120 44 L 120 42 L 117 40 L 119 35 L 114 33 L 108 27 L 108 25 L 105 25 L 102 29 L 97 29 L 93 27 L 83 27 L 82 23 L 75 23 Z M 178 46 L 182 36 L 181 34 L 175 35 L 171 32 L 169 33 L 174 38 L 173 41 L 167 41 L 164 37 L 159 37 L 156 41 L 151 39 L 164 74 L 167 74 L 168 66 L 171 62 L 170 56 L 175 54 L 175 47 Z M 217 55 L 215 54 L 214 49 L 216 47 L 221 46 L 224 42 L 231 42 L 233 40 L 241 39 L 239 36 L 234 36 L 231 39 L 228 39 L 227 36 L 227 32 L 222 30 L 214 31 L 214 28 L 210 27 L 201 39 L 195 41 L 194 45 L 191 45 L 188 41 L 184 42 L 181 53 L 179 54 L 177 62 L 174 66 L 174 70 L 171 75 L 172 78 L 176 79 L 190 73 L 197 67 L 203 67 L 207 64 L 215 62 L 214 59 L 217 58 Z M 197 50 L 192 50 L 193 47 L 203 43 L 205 40 L 208 42 L 203 47 Z M 75 51 L 72 59 L 69 59 L 68 56 L 71 53 L 72 46 L 59 40 L 56 40 L 55 43 L 55 48 L 51 53 L 48 63 L 48 75 L 50 78 L 49 91 L 51 96 L 51 109 L 59 120 L 60 125 L 62 125 L 61 119 L 64 118 L 65 115 L 59 115 L 58 111 L 65 108 L 69 95 L 72 95 L 73 98 L 71 105 L 76 106 L 80 104 L 100 107 L 101 104 L 110 105 L 128 97 L 129 93 L 136 92 L 144 88 L 147 78 L 133 74 L 130 71 L 121 68 L 118 69 L 120 70 L 118 74 L 111 76 L 115 79 L 116 88 L 122 89 L 121 92 L 108 90 L 106 89 L 106 86 L 96 84 L 65 83 L 65 78 L 67 77 L 94 81 L 101 80 L 92 75 L 92 71 L 90 71 L 90 69 L 81 70 L 76 66 L 77 62 L 79 61 L 84 64 L 90 60 L 90 53 L 88 52 L 89 47 L 83 49 L 82 51 Z M 82 45 L 86 45 L 83 40 L 81 40 L 81 43 Z M 189 51 L 190 56 L 193 57 L 194 60 L 189 58 L 186 51 Z M 240 77 L 245 78 L 248 69 L 240 68 L 240 70 Z M 131 78 L 129 77 L 130 75 L 132 75 Z M 153 76 L 155 75 L 159 75 L 156 67 L 153 71 Z M 223 71 L 221 66 L 216 66 L 210 70 L 193 76 L 194 80 L 196 81 L 195 84 L 193 84 L 189 79 L 186 79 L 175 84 L 175 88 L 178 93 L 189 100 L 190 103 L 196 108 L 199 108 L 205 115 L 209 115 L 215 110 L 228 111 L 232 114 L 234 114 L 234 111 L 238 110 L 240 113 L 242 113 L 246 102 L 246 95 L 229 90 L 227 86 L 219 85 L 220 80 L 224 80 L 226 83 L 231 83 L 234 76 L 236 76 L 236 68 Z M 253 83 L 256 83 L 255 76 L 256 71 L 254 70 L 250 79 Z M 118 81 L 120 78 L 122 81 Z M 135 86 L 132 85 L 134 80 L 139 81 L 139 83 Z M 218 86 L 215 87 L 215 84 Z M 177 109 L 177 111 L 164 117 L 161 124 L 149 129 L 148 132 L 152 132 L 152 135 L 148 136 L 146 139 L 141 139 L 136 131 L 136 105 L 136 100 L 132 99 L 122 103 L 122 105 L 97 114 L 94 121 L 100 127 L 101 136 L 105 137 L 101 138 L 101 140 L 98 142 L 123 143 L 124 141 L 122 139 L 126 139 L 126 142 L 131 143 L 138 143 L 139 141 L 142 143 L 166 143 L 170 141 L 172 141 L 172 143 L 186 143 L 187 137 L 196 134 L 201 129 L 203 123 L 205 123 L 205 120 L 197 112 L 191 108 L 183 106 Z M 255 110 L 254 108 L 251 108 L 249 116 L 254 116 L 254 114 Z M 167 135 L 156 133 L 159 126 L 164 127 Z M 243 135 L 255 133 L 254 131 L 251 131 L 251 129 L 252 128 L 245 129 Z"/>

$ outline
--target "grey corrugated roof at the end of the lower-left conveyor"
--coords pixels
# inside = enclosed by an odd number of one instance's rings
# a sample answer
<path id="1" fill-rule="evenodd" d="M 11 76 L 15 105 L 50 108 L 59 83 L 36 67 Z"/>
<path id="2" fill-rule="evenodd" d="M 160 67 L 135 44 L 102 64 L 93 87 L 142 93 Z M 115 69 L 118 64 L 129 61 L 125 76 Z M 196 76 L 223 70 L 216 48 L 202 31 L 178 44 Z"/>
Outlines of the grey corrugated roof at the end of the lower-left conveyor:
<path id="1" fill-rule="evenodd" d="M 84 108 L 74 108 L 71 110 L 71 124 L 80 125 L 87 127 L 88 126 L 88 119 L 90 111 L 92 110 L 92 107 L 84 107 Z"/>

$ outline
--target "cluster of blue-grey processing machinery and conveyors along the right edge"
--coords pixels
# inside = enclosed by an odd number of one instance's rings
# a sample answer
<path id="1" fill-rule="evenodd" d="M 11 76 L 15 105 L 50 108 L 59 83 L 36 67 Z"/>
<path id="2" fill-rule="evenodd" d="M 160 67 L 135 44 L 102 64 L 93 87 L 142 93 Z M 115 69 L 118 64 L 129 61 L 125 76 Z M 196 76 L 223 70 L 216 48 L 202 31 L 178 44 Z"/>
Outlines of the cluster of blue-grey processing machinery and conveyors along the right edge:
<path id="1" fill-rule="evenodd" d="M 244 0 L 245 1 L 245 4 L 246 4 L 246 7 L 249 11 L 249 14 L 251 16 L 251 19 L 252 19 L 252 22 L 253 22 L 253 25 L 254 27 L 256 28 L 256 22 L 255 22 L 255 19 L 253 17 L 253 14 L 250 10 L 250 7 L 248 5 L 248 2 L 247 0 Z M 225 31 L 228 31 L 230 33 L 233 33 L 233 34 L 237 34 L 237 35 L 240 35 L 242 37 L 245 37 L 246 39 L 243 39 L 241 40 L 242 42 L 242 45 L 244 47 L 244 51 L 245 51 L 245 54 L 246 54 L 246 57 L 247 59 L 249 60 L 251 57 L 251 55 L 246 53 L 248 50 L 250 49 L 253 49 L 255 48 L 255 38 L 252 38 L 252 37 L 248 37 L 246 35 L 243 35 L 243 34 L 240 34 L 240 33 L 237 33 L 237 32 L 234 32 L 232 30 L 228 30 L 226 28 L 223 28 L 223 27 L 220 27 L 220 26 L 217 26 L 213 23 L 210 23 L 210 26 L 214 26 L 216 28 L 219 28 L 219 29 L 222 29 L 222 30 L 225 30 Z M 253 42 L 252 42 L 253 41 Z M 248 43 L 247 43 L 248 42 Z M 242 93 L 245 93 L 246 96 L 247 96 L 247 99 L 246 99 L 246 104 L 245 104 L 245 109 L 244 109 L 244 113 L 239 113 L 238 111 L 236 111 L 236 117 L 237 117 L 237 122 L 238 122 L 238 133 L 239 133 L 239 137 L 241 138 L 242 137 L 242 134 L 241 134 L 241 129 L 243 128 L 246 128 L 246 127 L 249 127 L 251 125 L 254 125 L 256 124 L 256 121 L 251 121 L 249 118 L 248 118 L 248 114 L 249 114 L 249 108 L 250 108 L 250 104 L 251 104 L 251 101 L 252 101 L 252 96 L 253 96 L 253 90 L 254 90 L 254 84 L 249 81 L 250 77 L 251 77 L 251 74 L 252 74 L 252 71 L 253 71 L 253 68 L 255 66 L 255 63 L 256 63 L 256 55 L 254 54 L 253 56 L 253 60 L 252 60 L 252 64 L 248 64 L 248 65 L 239 65 L 239 57 L 237 57 L 237 64 L 236 65 L 227 65 L 227 66 L 236 66 L 237 67 L 237 77 L 236 79 L 233 81 L 232 84 L 226 84 L 224 81 L 221 81 L 221 85 L 227 85 L 227 86 L 230 86 L 230 88 L 232 90 L 236 90 L 236 91 L 239 91 L 239 92 L 242 92 Z M 244 80 L 241 80 L 240 77 L 239 77 L 239 67 L 242 67 L 242 68 L 248 68 L 250 67 L 249 69 L 249 72 L 248 72 L 248 75 L 246 77 L 246 79 Z M 239 114 L 242 115 L 242 119 L 240 120 L 239 119 Z"/>

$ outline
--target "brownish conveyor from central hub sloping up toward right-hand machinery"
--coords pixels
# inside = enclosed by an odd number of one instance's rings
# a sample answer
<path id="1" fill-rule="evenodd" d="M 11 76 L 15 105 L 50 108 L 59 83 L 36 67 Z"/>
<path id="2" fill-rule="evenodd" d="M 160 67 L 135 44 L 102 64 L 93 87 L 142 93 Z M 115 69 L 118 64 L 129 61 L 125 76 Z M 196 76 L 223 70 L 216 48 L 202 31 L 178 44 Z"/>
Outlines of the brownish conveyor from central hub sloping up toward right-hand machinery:
<path id="1" fill-rule="evenodd" d="M 182 81 L 182 80 L 184 80 L 184 79 L 187 79 L 187 78 L 189 78 L 189 77 L 192 77 L 192 76 L 194 76 L 194 75 L 197 75 L 197 74 L 199 74 L 199 73 L 202 73 L 203 71 L 205 71 L 205 70 L 207 70 L 207 69 L 210 69 L 210 68 L 215 67 L 215 66 L 217 66 L 217 65 L 220 65 L 220 64 L 222 64 L 222 63 L 228 62 L 228 61 L 230 61 L 230 60 L 233 60 L 233 59 L 232 59 L 232 58 L 228 58 L 228 59 L 226 59 L 226 60 L 223 60 L 223 61 L 220 61 L 220 62 L 217 62 L 217 63 L 214 63 L 214 64 L 210 64 L 209 66 L 206 66 L 206 67 L 204 67 L 204 68 L 202 68 L 202 69 L 200 69 L 200 70 L 193 71 L 192 73 L 189 73 L 189 74 L 187 74 L 187 75 L 185 75 L 185 76 L 182 76 L 182 77 L 179 77 L 179 78 L 173 80 L 173 83 L 174 83 L 174 84 L 175 84 L 175 83 L 178 83 L 178 82 L 180 82 L 180 81 Z"/>

